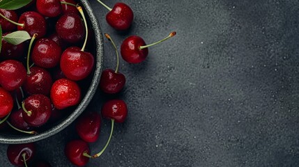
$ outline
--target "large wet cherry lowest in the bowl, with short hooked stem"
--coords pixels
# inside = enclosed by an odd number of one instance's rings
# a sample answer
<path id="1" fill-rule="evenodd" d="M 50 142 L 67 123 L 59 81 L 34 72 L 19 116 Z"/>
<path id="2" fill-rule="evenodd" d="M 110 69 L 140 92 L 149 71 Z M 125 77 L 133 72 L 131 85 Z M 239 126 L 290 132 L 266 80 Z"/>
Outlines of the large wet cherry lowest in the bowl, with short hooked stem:
<path id="1" fill-rule="evenodd" d="M 31 127 L 40 127 L 44 125 L 50 118 L 52 112 L 51 101 L 49 97 L 40 94 L 34 94 L 24 100 L 26 111 L 31 111 L 28 115 L 22 112 L 24 120 Z"/>

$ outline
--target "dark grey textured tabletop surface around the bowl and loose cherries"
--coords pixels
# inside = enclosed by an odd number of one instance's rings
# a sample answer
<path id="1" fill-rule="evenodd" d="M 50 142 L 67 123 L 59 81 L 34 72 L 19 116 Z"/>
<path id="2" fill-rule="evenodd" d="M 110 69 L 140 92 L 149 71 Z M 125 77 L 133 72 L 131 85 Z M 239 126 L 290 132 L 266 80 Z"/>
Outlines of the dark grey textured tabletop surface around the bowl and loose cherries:
<path id="1" fill-rule="evenodd" d="M 150 48 L 144 63 L 121 59 L 128 82 L 116 97 L 127 102 L 128 119 L 88 166 L 299 166 L 298 1 L 123 2 L 135 20 L 119 33 L 90 1 L 118 47 L 128 35 L 147 43 L 177 35 Z M 115 64 L 105 39 L 105 68 Z M 89 109 L 100 111 L 109 98 L 98 90 Z M 109 129 L 103 120 L 91 152 L 101 150 Z M 72 166 L 63 154 L 72 138 L 73 125 L 37 142 L 38 158 Z M 0 145 L 1 166 L 11 166 L 6 148 Z"/>

